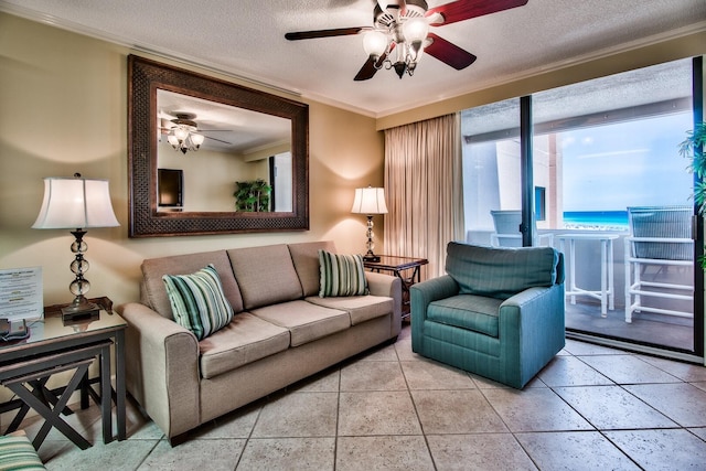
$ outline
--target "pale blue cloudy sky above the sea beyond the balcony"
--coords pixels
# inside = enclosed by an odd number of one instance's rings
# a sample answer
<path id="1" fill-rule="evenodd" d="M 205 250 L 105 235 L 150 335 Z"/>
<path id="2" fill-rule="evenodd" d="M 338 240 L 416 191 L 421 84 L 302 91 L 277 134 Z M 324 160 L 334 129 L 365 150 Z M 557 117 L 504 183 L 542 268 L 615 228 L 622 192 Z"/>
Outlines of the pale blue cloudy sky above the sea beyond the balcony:
<path id="1" fill-rule="evenodd" d="M 691 113 L 561 132 L 564 211 L 693 204 L 693 175 L 678 143 Z"/>

